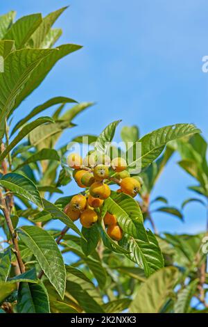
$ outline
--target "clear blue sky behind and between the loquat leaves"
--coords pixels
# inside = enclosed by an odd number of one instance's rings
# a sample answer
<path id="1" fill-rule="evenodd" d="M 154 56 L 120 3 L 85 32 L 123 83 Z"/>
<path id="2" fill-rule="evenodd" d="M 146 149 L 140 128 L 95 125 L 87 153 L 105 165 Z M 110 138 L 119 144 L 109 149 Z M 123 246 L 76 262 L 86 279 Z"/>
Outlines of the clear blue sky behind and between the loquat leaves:
<path id="1" fill-rule="evenodd" d="M 108 123 L 137 124 L 141 134 L 175 122 L 193 122 L 207 138 L 208 74 L 202 56 L 208 55 L 206 0 L 8 0 L 1 13 L 17 10 L 17 17 L 44 15 L 70 5 L 55 26 L 64 33 L 59 43 L 84 48 L 64 58 L 49 77 L 16 111 L 15 121 L 53 96 L 73 97 L 97 105 L 64 134 L 98 134 Z M 119 140 L 119 131 L 116 139 Z M 165 194 L 180 207 L 193 184 L 173 157 L 154 196 Z M 69 193 L 76 189 L 65 188 Z M 160 231 L 199 232 L 205 228 L 205 209 L 193 203 L 184 211 L 186 223 L 166 214 L 155 215 Z"/>

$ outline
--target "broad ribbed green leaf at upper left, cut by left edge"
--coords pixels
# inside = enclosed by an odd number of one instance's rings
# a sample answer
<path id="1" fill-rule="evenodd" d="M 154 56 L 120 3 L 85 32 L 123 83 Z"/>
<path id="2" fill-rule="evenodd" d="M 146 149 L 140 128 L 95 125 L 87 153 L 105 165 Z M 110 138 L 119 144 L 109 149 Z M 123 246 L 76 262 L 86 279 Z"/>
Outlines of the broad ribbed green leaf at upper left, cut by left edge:
<path id="1" fill-rule="evenodd" d="M 15 105 L 19 92 L 31 77 L 31 73 L 42 59 L 55 49 L 23 49 L 12 51 L 4 61 L 4 72 L 0 74 L 0 138 L 5 131 L 4 120 Z"/>

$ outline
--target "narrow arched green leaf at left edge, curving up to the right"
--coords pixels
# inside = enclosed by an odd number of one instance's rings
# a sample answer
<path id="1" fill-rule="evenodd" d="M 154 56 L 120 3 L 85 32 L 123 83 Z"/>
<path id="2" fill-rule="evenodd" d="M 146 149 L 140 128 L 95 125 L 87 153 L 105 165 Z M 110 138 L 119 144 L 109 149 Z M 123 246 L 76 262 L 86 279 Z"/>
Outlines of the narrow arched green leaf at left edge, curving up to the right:
<path id="1" fill-rule="evenodd" d="M 17 134 L 17 136 L 8 145 L 8 147 L 6 147 L 6 150 L 1 153 L 0 161 L 6 158 L 7 154 L 33 129 L 36 129 L 38 126 L 45 124 L 46 122 L 53 122 L 53 120 L 50 117 L 40 117 L 24 126 L 21 131 L 19 131 L 19 134 Z"/>

